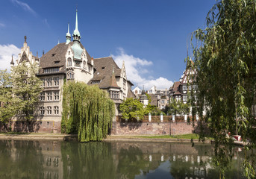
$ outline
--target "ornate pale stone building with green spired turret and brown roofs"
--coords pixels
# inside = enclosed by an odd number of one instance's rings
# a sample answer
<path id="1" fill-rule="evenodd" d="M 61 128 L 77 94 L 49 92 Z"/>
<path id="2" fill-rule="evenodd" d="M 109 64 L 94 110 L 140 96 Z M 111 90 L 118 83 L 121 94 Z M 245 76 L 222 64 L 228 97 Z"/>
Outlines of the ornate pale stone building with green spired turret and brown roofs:
<path id="1" fill-rule="evenodd" d="M 76 11 L 75 31 L 66 33 L 66 43 L 58 43 L 42 57 L 32 55 L 26 42 L 21 48 L 16 63 L 11 61 L 11 66 L 19 65 L 22 61 L 37 63 L 40 71 L 37 76 L 42 80 L 43 92 L 40 94 L 40 104 L 34 121 L 38 130 L 60 133 L 62 113 L 62 87 L 65 81 L 82 81 L 88 85 L 99 85 L 102 90 L 107 90 L 110 98 L 116 104 L 116 115 L 119 114 L 119 104 L 125 98 L 134 97 L 131 91 L 131 81 L 128 81 L 125 63 L 122 68 L 116 65 L 112 57 L 93 59 L 81 44 L 81 35 L 78 31 L 78 11 Z M 14 119 L 15 120 L 15 119 Z"/>

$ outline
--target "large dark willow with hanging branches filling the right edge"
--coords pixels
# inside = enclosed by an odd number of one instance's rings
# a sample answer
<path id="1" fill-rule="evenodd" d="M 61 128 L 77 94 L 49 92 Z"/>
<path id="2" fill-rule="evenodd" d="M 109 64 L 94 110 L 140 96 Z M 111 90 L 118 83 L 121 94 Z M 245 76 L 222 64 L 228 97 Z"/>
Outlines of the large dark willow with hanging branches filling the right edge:
<path id="1" fill-rule="evenodd" d="M 198 111 L 219 143 L 228 144 L 229 131 L 256 143 L 256 1 L 222 0 L 207 14 L 207 28 L 193 32 Z M 192 42 L 194 42 L 192 40 Z M 244 162 L 247 177 L 255 166 Z"/>

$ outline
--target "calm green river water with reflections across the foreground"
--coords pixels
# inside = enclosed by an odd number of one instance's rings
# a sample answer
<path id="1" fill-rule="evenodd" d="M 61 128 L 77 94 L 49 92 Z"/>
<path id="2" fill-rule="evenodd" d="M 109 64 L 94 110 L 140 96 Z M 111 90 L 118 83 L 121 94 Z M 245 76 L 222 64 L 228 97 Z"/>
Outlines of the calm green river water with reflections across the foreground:
<path id="1" fill-rule="evenodd" d="M 226 178 L 242 178 L 242 152 Z M 190 143 L 0 140 L 0 178 L 219 178 L 212 158 Z"/>

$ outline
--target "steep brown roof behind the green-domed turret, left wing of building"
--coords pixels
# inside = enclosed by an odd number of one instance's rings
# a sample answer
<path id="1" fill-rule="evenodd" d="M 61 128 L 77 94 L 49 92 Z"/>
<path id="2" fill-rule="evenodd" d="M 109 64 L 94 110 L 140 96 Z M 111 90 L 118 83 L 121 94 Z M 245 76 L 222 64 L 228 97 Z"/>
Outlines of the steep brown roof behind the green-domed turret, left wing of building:
<path id="1" fill-rule="evenodd" d="M 43 74 L 44 68 L 61 67 L 61 66 L 63 66 L 63 68 L 60 69 L 60 72 L 65 72 L 65 60 L 66 60 L 65 55 L 66 55 L 67 49 L 69 48 L 69 45 L 73 45 L 73 42 L 70 42 L 69 44 L 66 44 L 66 43 L 57 44 L 56 46 L 54 46 L 54 48 L 51 48 L 50 51 L 44 54 L 40 58 L 39 74 Z M 84 49 L 84 46 L 81 45 L 81 48 Z M 91 64 L 91 57 L 90 57 L 90 54 L 88 53 L 87 53 L 87 59 L 88 59 L 88 63 Z M 59 61 L 59 63 L 55 63 L 55 61 Z"/>

